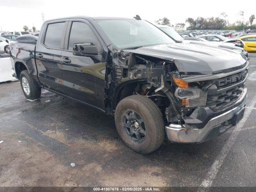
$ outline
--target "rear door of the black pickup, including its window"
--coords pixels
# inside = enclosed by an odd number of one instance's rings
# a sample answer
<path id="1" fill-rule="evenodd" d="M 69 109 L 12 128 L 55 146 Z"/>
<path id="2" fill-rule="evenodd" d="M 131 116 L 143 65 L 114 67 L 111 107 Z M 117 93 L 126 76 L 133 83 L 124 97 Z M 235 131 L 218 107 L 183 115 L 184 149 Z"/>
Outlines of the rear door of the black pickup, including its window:
<path id="1" fill-rule="evenodd" d="M 46 22 L 36 46 L 39 81 L 46 88 L 62 94 L 64 90 L 60 59 L 67 25 L 68 19 Z"/>

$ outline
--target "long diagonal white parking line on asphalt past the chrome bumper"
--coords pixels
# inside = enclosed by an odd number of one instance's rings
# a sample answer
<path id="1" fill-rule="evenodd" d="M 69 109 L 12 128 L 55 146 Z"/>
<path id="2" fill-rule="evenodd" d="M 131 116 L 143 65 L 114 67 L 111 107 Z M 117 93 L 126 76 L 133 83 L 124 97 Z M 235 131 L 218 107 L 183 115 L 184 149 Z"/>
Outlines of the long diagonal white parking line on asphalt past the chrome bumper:
<path id="1" fill-rule="evenodd" d="M 227 154 L 229 153 L 230 149 L 232 148 L 241 128 L 244 126 L 247 118 L 249 117 L 252 108 L 254 108 L 254 105 L 256 104 L 256 94 L 252 98 L 252 101 L 250 102 L 248 108 L 244 112 L 244 118 L 240 120 L 240 122 L 236 125 L 234 128 L 234 131 L 228 138 L 228 141 L 224 144 L 222 150 L 220 151 L 220 154 L 215 159 L 214 163 L 212 164 L 212 167 L 210 168 L 209 172 L 206 174 L 206 177 L 201 183 L 201 187 L 210 187 L 212 186 L 212 182 L 214 181 L 216 175 L 218 174 L 218 171 L 224 162 L 224 159 L 226 158 Z"/>

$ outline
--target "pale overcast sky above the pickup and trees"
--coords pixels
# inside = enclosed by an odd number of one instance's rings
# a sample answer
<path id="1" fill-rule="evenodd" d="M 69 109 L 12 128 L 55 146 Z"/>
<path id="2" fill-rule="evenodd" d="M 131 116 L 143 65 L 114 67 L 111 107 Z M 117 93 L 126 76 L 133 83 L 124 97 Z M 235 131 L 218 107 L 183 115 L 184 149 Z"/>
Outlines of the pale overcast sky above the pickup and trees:
<path id="1" fill-rule="evenodd" d="M 24 25 L 40 30 L 42 13 L 44 20 L 81 15 L 132 18 L 138 14 L 150 22 L 167 17 L 176 24 L 185 23 L 188 17 L 218 17 L 221 12 L 226 12 L 226 19 L 233 23 L 241 20 L 240 10 L 244 20 L 249 20 L 251 14 L 256 15 L 256 0 L 0 0 L 0 31 L 21 31 Z"/>

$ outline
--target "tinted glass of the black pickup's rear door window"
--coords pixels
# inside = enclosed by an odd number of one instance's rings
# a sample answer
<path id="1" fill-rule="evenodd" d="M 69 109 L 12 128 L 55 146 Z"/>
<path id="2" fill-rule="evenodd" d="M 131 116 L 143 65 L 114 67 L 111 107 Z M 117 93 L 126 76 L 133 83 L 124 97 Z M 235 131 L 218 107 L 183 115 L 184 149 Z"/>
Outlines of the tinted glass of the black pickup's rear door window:
<path id="1" fill-rule="evenodd" d="M 65 22 L 48 24 L 44 44 L 50 48 L 62 48 L 61 38 Z"/>

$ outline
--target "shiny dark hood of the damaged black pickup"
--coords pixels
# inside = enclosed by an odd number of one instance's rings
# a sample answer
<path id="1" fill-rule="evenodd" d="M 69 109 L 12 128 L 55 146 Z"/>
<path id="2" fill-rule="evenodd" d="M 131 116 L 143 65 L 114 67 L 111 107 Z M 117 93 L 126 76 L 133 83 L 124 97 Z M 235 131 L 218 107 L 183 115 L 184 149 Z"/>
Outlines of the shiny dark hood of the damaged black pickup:
<path id="1" fill-rule="evenodd" d="M 174 60 L 178 71 L 184 74 L 216 74 L 242 67 L 246 62 L 239 52 L 190 43 L 161 44 L 123 51 Z"/>

